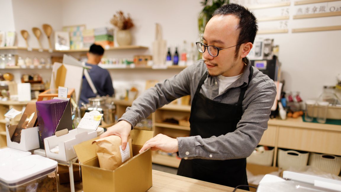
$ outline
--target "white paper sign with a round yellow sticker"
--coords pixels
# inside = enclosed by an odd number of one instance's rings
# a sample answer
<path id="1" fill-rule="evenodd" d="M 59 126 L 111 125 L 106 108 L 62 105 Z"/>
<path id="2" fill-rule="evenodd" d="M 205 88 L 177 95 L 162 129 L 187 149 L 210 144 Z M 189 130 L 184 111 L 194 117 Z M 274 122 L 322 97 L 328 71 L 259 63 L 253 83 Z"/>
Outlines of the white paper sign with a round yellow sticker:
<path id="1" fill-rule="evenodd" d="M 98 111 L 86 112 L 80 120 L 77 128 L 96 130 L 101 122 L 103 114 Z"/>

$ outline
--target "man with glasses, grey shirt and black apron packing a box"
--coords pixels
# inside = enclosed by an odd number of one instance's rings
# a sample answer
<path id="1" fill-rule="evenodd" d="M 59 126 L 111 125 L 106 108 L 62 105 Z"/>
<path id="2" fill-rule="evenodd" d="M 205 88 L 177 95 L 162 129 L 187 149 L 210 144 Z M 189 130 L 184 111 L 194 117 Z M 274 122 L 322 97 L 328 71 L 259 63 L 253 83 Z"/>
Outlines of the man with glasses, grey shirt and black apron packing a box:
<path id="1" fill-rule="evenodd" d="M 243 6 L 227 4 L 216 10 L 203 41 L 196 43 L 204 60 L 143 93 L 102 137 L 119 135 L 125 148 L 138 121 L 191 95 L 190 137 L 159 134 L 140 152 L 148 148 L 178 152 L 182 158 L 178 175 L 230 187 L 247 185 L 246 157 L 267 129 L 276 96 L 273 81 L 246 58 L 256 32 L 256 18 Z"/>

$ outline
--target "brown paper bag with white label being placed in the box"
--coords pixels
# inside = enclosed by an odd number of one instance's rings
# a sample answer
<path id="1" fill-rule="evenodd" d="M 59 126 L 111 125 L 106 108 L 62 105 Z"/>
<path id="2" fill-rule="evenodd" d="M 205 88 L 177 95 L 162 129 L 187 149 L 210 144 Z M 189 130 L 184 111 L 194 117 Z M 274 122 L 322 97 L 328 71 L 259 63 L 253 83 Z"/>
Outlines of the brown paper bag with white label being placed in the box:
<path id="1" fill-rule="evenodd" d="M 97 144 L 96 152 L 100 167 L 103 169 L 115 170 L 125 161 L 128 161 L 130 158 L 132 158 L 133 151 L 131 141 L 132 139 L 129 136 L 127 147 L 124 151 L 121 150 L 121 137 L 117 135 L 111 135 L 92 141 L 92 144 Z"/>

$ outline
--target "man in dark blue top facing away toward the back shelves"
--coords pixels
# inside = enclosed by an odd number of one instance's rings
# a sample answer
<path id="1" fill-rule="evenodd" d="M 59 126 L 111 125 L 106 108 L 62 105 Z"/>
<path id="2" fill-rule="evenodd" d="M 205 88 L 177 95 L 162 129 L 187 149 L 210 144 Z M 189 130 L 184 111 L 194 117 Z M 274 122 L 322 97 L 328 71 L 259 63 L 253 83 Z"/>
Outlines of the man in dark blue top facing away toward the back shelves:
<path id="1" fill-rule="evenodd" d="M 89 70 L 89 76 L 100 96 L 112 96 L 114 94 L 113 82 L 110 74 L 106 69 L 98 66 L 104 54 L 104 49 L 101 45 L 92 44 L 89 52 L 87 53 L 88 61 L 86 66 L 91 66 Z M 80 92 L 79 106 L 81 103 L 87 104 L 88 98 L 96 97 L 96 94 L 92 91 L 87 79 L 83 76 L 82 90 Z"/>

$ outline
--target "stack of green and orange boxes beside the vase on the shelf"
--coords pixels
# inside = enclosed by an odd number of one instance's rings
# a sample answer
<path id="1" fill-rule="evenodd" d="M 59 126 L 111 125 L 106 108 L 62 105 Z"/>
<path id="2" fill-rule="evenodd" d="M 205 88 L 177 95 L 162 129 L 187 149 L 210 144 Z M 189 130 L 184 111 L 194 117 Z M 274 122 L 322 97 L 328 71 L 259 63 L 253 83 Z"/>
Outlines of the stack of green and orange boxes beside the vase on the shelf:
<path id="1" fill-rule="evenodd" d="M 107 49 L 114 46 L 114 29 L 101 27 L 94 29 L 95 43 Z"/>

